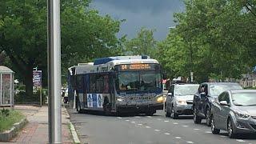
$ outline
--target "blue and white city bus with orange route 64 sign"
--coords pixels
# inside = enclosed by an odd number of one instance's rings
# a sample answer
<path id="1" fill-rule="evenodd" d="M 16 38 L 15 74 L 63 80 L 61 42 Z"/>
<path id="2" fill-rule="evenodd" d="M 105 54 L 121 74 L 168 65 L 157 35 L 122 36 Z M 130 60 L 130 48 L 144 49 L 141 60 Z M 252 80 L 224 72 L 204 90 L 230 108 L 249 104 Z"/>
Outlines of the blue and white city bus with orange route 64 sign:
<path id="1" fill-rule="evenodd" d="M 68 71 L 68 101 L 78 113 L 153 115 L 163 108 L 161 66 L 148 56 L 98 58 Z"/>

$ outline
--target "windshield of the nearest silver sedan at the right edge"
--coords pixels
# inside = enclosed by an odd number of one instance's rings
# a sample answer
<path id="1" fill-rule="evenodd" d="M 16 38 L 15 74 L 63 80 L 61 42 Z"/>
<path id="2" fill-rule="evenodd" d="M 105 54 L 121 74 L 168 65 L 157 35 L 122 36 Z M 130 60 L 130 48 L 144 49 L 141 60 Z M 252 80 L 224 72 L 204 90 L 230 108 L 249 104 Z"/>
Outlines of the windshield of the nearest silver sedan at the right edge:
<path id="1" fill-rule="evenodd" d="M 232 100 L 234 102 L 234 105 L 256 106 L 256 92 L 232 94 Z"/>

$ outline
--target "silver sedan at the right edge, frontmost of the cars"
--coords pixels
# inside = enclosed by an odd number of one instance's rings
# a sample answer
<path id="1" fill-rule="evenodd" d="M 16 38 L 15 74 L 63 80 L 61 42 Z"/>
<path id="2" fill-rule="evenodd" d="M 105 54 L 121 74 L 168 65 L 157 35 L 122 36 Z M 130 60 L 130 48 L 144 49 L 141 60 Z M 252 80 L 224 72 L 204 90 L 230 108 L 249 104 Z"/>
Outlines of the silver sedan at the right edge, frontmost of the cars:
<path id="1" fill-rule="evenodd" d="M 256 90 L 227 90 L 212 106 L 211 131 L 226 130 L 230 138 L 239 133 L 256 134 Z"/>

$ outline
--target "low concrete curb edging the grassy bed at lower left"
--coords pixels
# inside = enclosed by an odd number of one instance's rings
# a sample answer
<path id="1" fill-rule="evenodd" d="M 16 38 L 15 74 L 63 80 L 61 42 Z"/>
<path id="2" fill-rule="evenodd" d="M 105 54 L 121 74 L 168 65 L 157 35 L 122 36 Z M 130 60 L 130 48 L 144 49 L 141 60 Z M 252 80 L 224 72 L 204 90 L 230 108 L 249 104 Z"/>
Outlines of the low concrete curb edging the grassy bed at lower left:
<path id="1" fill-rule="evenodd" d="M 26 126 L 27 122 L 27 119 L 23 118 L 20 122 L 14 123 L 10 130 L 6 130 L 5 132 L 0 133 L 0 142 L 9 142 L 18 134 L 18 131 L 22 130 L 22 128 Z"/>

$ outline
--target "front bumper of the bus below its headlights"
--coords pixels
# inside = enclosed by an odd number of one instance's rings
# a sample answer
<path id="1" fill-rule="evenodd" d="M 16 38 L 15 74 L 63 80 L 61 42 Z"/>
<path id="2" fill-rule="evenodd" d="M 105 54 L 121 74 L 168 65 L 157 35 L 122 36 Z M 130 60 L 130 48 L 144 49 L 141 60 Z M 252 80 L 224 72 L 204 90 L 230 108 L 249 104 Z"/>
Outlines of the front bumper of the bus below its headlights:
<path id="1" fill-rule="evenodd" d="M 117 105 L 118 112 L 134 112 L 134 113 L 146 113 L 148 111 L 162 110 L 162 103 L 155 104 L 135 104 L 135 105 Z"/>

